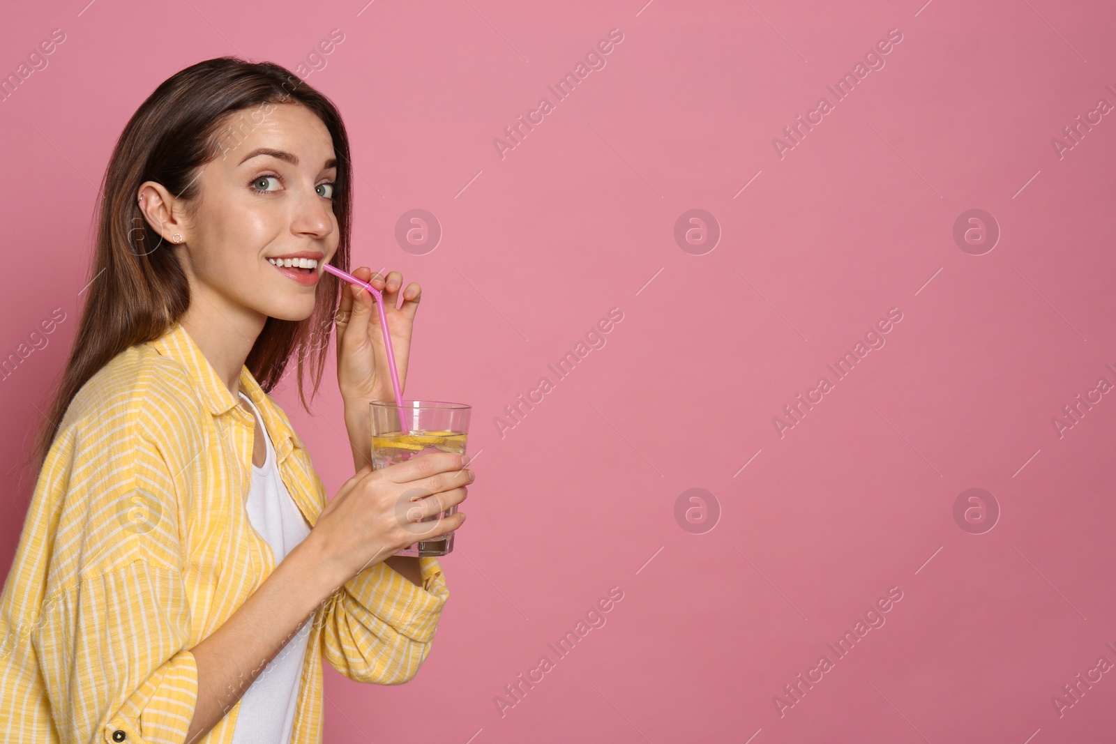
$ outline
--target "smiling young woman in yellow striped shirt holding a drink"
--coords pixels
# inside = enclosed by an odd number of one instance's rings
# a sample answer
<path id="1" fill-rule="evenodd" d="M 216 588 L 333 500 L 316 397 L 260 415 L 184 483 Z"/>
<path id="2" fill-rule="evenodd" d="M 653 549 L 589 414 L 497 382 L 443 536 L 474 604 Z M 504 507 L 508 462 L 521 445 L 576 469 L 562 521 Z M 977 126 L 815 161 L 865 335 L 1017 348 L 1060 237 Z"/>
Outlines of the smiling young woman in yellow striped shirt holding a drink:
<path id="1" fill-rule="evenodd" d="M 3 741 L 316 743 L 323 656 L 384 685 L 426 658 L 445 580 L 394 553 L 461 525 L 419 523 L 472 473 L 368 462 L 378 316 L 321 270 L 348 270 L 352 175 L 337 109 L 271 64 L 189 67 L 128 122 L 0 595 Z M 402 381 L 421 288 L 353 273 L 384 291 Z M 329 326 L 356 468 L 331 500 L 267 395 L 296 357 L 306 405 Z"/>

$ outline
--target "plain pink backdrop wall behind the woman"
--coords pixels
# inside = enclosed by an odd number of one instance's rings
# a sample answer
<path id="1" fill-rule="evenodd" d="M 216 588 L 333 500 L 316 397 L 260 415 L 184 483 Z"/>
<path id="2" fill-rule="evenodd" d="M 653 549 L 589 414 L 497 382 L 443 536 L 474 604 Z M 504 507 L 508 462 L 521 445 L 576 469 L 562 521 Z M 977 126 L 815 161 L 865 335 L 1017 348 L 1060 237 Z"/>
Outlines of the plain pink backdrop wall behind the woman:
<path id="1" fill-rule="evenodd" d="M 1116 116 L 1061 158 L 1051 139 L 1116 104 L 1116 8 L 642 3 L 12 8 L 0 71 L 54 28 L 66 41 L 0 105 L 0 352 L 67 319 L 0 386 L 0 570 L 125 122 L 195 61 L 294 70 L 338 28 L 306 79 L 352 134 L 355 265 L 423 286 L 406 393 L 472 404 L 480 456 L 431 656 L 398 687 L 327 665 L 326 741 L 1110 741 L 1116 675 L 1061 716 L 1052 697 L 1116 663 L 1116 402 L 1061 437 L 1052 419 L 1116 383 Z M 556 103 L 547 85 L 614 28 L 606 66 Z M 772 138 L 893 28 L 885 66 L 780 158 Z M 493 139 L 543 96 L 555 110 L 501 160 Z M 422 255 L 394 236 L 412 209 L 444 233 Z M 674 240 L 691 209 L 722 232 L 701 255 Z M 972 209 L 1001 230 L 981 255 L 953 239 Z M 606 345 L 557 380 L 547 364 L 614 307 Z M 891 308 L 885 346 L 780 437 L 772 418 Z M 331 491 L 352 474 L 335 379 L 316 416 L 277 393 Z M 675 519 L 695 487 L 699 533 Z M 990 531 L 954 519 L 971 487 L 999 505 Z M 558 659 L 547 644 L 612 587 L 607 622 Z M 837 660 L 826 644 L 892 587 L 886 624 Z M 834 667 L 780 715 L 822 654 Z"/>

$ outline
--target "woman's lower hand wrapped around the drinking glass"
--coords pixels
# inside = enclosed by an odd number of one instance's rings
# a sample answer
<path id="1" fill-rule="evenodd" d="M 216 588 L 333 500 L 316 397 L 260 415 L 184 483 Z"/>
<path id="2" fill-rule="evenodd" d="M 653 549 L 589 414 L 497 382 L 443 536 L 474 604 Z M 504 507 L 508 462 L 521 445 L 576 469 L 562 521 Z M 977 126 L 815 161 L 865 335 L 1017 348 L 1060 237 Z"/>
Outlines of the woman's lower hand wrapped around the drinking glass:
<path id="1" fill-rule="evenodd" d="M 335 570 L 340 586 L 369 566 L 419 540 L 433 540 L 461 526 L 461 512 L 436 515 L 468 497 L 472 471 L 462 456 L 434 452 L 374 471 L 362 467 L 321 510 L 307 541 Z M 435 516 L 429 522 L 422 520 Z"/>

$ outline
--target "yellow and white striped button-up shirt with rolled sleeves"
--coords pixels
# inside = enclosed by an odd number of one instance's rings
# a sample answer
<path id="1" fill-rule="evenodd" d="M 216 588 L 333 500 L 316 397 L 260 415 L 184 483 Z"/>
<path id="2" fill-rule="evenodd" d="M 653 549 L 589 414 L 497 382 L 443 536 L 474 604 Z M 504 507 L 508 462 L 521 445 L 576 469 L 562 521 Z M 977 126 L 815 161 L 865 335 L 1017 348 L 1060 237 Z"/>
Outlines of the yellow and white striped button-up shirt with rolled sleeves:
<path id="1" fill-rule="evenodd" d="M 312 526 L 327 495 L 306 447 L 247 366 L 240 389 Z M 190 649 L 276 567 L 244 506 L 254 425 L 180 323 L 81 387 L 0 593 L 0 741 L 184 742 L 198 697 Z M 437 560 L 420 566 L 422 587 L 381 562 L 315 611 L 292 744 L 321 741 L 323 656 L 355 682 L 415 676 L 450 596 Z M 239 709 L 201 742 L 230 744 Z"/>

